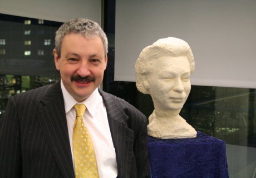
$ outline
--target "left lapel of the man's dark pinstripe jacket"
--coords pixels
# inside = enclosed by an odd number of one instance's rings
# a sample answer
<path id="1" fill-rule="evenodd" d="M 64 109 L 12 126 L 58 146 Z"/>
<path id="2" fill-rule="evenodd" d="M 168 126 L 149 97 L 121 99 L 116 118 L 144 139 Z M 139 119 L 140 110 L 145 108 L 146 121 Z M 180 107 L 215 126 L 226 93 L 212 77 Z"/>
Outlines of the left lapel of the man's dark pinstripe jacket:
<path id="1" fill-rule="evenodd" d="M 41 102 L 38 117 L 63 177 L 75 177 L 60 82 L 52 85 Z"/>

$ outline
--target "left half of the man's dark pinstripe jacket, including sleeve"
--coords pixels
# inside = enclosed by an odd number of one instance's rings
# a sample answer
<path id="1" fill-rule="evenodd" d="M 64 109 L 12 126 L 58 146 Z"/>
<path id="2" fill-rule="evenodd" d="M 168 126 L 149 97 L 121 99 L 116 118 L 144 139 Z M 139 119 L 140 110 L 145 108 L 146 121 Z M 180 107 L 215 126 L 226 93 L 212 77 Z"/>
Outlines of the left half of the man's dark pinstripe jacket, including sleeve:
<path id="1" fill-rule="evenodd" d="M 0 126 L 0 177 L 75 177 L 60 83 L 9 98 Z"/>

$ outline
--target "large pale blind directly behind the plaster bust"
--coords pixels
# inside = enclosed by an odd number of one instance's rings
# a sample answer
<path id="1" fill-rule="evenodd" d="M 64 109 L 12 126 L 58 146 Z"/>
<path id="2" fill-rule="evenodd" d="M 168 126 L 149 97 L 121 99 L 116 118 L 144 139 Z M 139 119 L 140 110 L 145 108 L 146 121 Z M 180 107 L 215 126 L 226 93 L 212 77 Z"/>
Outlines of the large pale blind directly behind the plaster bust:
<path id="1" fill-rule="evenodd" d="M 157 39 L 188 42 L 191 85 L 256 88 L 255 0 L 116 0 L 115 81 L 135 82 L 135 62 Z"/>

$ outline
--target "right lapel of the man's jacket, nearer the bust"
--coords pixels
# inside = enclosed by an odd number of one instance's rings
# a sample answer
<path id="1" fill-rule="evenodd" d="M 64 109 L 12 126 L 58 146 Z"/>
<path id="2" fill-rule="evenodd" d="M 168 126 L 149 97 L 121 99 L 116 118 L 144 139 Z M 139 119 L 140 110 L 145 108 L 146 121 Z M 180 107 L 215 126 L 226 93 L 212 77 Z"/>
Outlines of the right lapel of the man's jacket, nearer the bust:
<path id="1" fill-rule="evenodd" d="M 129 117 L 117 105 L 115 99 L 109 93 L 99 90 L 107 110 L 107 118 L 116 150 L 117 171 L 119 177 L 129 177 L 131 171 L 134 131 L 127 126 Z"/>

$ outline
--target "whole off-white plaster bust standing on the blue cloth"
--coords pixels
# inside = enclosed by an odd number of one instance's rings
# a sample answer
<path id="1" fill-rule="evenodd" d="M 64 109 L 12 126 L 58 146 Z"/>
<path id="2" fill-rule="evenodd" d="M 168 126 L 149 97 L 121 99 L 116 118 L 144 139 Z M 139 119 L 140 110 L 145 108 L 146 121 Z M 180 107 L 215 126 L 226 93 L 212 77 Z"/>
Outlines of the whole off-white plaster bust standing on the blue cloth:
<path id="1" fill-rule="evenodd" d="M 193 53 L 182 39 L 159 39 L 142 50 L 135 64 L 136 87 L 150 94 L 154 102 L 148 135 L 159 139 L 196 137 L 195 129 L 179 115 L 189 96 L 194 69 Z"/>

